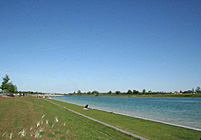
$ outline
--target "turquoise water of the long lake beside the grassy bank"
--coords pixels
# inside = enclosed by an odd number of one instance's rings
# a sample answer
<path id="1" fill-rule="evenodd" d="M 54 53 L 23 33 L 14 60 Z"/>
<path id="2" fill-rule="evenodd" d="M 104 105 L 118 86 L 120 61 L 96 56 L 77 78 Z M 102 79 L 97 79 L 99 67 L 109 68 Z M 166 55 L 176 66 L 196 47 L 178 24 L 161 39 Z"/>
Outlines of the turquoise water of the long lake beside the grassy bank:
<path id="1" fill-rule="evenodd" d="M 66 96 L 58 100 L 201 129 L 201 98 Z"/>

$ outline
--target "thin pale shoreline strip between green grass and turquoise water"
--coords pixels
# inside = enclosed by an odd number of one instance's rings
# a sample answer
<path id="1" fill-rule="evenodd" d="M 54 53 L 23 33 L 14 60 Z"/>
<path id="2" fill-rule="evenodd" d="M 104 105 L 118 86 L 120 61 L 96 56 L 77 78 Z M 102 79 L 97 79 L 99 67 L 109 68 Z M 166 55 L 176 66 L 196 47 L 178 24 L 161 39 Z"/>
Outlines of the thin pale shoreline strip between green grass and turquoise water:
<path id="1" fill-rule="evenodd" d="M 56 101 L 61 101 L 61 100 L 57 100 L 55 98 L 52 98 L 52 99 L 56 100 Z M 65 103 L 70 103 L 70 104 L 82 106 L 81 104 L 75 104 L 75 103 L 66 102 L 66 101 L 61 101 L 61 102 L 65 102 Z M 96 109 L 96 110 L 100 110 L 100 111 L 105 111 L 105 112 L 109 112 L 109 113 L 112 112 L 112 111 L 108 111 L 108 110 L 104 110 L 104 109 L 99 109 L 99 108 L 92 108 L 92 109 Z M 148 121 L 153 121 L 153 122 L 157 122 L 157 123 L 162 123 L 162 124 L 167 124 L 167 125 L 172 125 L 172 126 L 187 128 L 187 129 L 191 129 L 191 130 L 201 131 L 200 128 L 194 128 L 194 127 L 190 127 L 190 126 L 173 124 L 173 123 L 169 123 L 169 122 L 164 122 L 164 121 L 159 121 L 159 120 L 154 120 L 154 119 L 148 119 L 148 118 L 144 118 L 144 117 L 139 117 L 139 116 L 134 116 L 134 115 L 128 115 L 128 114 L 119 113 L 119 112 L 112 112 L 112 113 L 119 114 L 119 115 L 124 115 L 124 116 L 128 116 L 128 117 L 134 117 L 134 118 L 138 118 L 138 119 L 143 119 L 143 120 L 148 120 Z"/>

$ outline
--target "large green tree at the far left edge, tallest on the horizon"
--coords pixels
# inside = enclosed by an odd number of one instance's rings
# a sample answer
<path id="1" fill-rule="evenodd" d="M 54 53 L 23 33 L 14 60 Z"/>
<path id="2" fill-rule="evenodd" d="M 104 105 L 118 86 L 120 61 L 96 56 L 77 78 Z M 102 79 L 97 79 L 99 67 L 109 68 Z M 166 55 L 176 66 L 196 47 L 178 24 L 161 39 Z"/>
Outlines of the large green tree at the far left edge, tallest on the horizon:
<path id="1" fill-rule="evenodd" d="M 3 78 L 3 82 L 1 84 L 1 89 L 3 91 L 8 91 L 10 93 L 14 93 L 14 92 L 17 92 L 17 86 L 16 85 L 13 85 L 12 82 L 9 82 L 10 78 L 9 76 L 6 74 L 6 76 Z"/>

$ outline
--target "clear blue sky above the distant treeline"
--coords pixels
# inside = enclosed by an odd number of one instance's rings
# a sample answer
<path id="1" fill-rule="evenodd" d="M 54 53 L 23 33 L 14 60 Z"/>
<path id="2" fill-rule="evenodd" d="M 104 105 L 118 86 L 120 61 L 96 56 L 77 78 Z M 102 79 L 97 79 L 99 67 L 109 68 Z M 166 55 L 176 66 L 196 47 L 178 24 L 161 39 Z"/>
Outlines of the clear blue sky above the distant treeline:
<path id="1" fill-rule="evenodd" d="M 1 0 L 0 76 L 22 91 L 196 88 L 200 8 L 200 0 Z"/>

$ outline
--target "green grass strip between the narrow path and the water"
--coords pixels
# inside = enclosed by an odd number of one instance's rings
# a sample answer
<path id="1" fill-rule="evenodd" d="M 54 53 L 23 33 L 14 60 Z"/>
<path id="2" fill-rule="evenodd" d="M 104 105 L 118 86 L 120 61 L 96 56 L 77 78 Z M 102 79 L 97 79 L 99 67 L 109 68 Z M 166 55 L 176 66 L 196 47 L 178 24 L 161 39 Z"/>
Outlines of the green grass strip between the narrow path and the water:
<path id="1" fill-rule="evenodd" d="M 83 107 L 64 103 L 60 101 L 52 100 L 62 106 L 66 106 L 72 110 L 95 118 L 97 120 L 106 122 L 113 126 L 122 128 L 129 132 L 135 133 L 142 137 L 153 139 L 153 140 L 184 140 L 184 139 L 200 139 L 201 132 L 191 129 L 171 126 L 167 124 L 142 120 L 134 117 L 128 117 L 124 115 L 119 115 L 115 113 L 109 113 L 105 111 L 100 111 L 96 109 L 83 110 Z"/>

